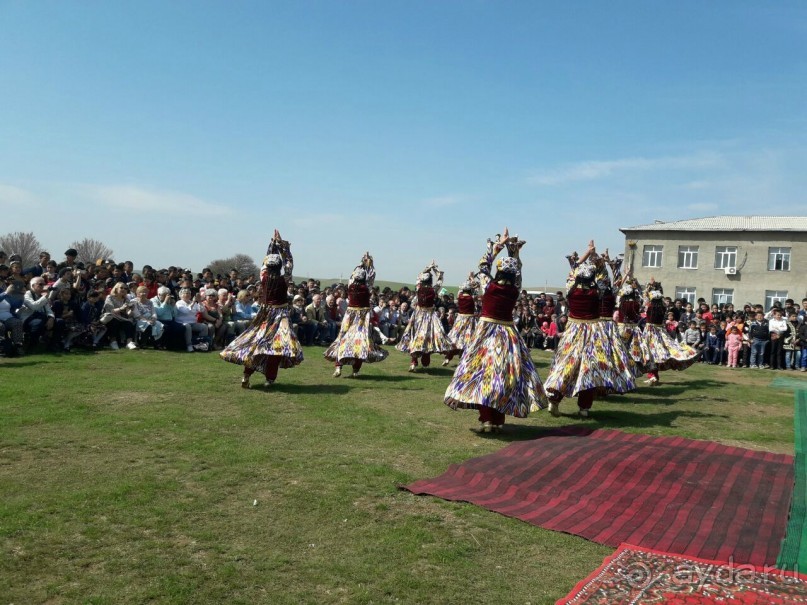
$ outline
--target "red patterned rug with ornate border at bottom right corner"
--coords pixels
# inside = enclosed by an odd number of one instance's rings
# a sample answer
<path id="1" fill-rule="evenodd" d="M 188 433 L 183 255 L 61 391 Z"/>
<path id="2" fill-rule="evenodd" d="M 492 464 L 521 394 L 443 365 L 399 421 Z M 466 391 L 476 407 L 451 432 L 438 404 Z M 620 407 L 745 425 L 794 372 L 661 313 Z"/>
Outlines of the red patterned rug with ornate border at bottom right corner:
<path id="1" fill-rule="evenodd" d="M 623 544 L 556 605 L 807 603 L 807 576 Z"/>

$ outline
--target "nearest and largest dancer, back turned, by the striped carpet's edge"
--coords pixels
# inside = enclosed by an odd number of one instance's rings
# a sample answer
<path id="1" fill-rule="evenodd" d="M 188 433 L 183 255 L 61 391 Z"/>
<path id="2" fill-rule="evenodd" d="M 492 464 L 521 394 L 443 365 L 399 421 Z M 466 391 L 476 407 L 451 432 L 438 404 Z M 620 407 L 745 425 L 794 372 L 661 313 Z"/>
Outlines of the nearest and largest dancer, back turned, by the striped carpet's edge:
<path id="1" fill-rule="evenodd" d="M 521 291 L 519 250 L 525 244 L 518 236 L 504 233 L 494 243 L 488 240 L 479 262 L 482 282 L 482 312 L 473 339 L 465 347 L 445 394 L 453 409 L 479 410 L 480 432 L 499 432 L 505 415 L 525 418 L 546 407 L 546 393 L 530 357 L 530 350 L 513 324 L 513 309 Z M 508 257 L 493 261 L 504 248 Z"/>

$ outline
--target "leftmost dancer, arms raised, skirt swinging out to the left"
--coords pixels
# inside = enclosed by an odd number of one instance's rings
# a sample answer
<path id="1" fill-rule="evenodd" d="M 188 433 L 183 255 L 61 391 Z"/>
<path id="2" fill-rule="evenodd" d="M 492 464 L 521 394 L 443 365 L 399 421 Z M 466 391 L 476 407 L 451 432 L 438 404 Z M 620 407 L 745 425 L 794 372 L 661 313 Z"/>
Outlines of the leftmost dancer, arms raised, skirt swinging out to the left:
<path id="1" fill-rule="evenodd" d="M 279 368 L 292 368 L 303 361 L 303 349 L 289 321 L 287 292 L 293 268 L 291 246 L 275 229 L 261 268 L 260 309 L 250 326 L 220 354 L 224 361 L 244 366 L 241 386 L 245 389 L 256 370 L 263 372 L 269 386 L 277 379 Z"/>

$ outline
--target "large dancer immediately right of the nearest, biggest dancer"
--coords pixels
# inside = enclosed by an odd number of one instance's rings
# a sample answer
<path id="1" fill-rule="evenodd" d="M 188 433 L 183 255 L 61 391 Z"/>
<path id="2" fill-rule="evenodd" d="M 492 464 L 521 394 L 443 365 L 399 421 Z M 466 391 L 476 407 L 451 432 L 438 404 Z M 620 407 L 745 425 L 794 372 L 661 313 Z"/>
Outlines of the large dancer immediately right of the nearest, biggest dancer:
<path id="1" fill-rule="evenodd" d="M 613 346 L 600 321 L 594 241 L 580 258 L 570 258 L 567 279 L 569 323 L 558 342 L 544 387 L 550 396 L 549 412 L 560 415 L 563 397 L 577 397 L 582 418 L 588 418 L 595 395 L 627 393 L 636 388 L 627 354 Z M 600 275 L 602 275 L 600 273 Z"/>

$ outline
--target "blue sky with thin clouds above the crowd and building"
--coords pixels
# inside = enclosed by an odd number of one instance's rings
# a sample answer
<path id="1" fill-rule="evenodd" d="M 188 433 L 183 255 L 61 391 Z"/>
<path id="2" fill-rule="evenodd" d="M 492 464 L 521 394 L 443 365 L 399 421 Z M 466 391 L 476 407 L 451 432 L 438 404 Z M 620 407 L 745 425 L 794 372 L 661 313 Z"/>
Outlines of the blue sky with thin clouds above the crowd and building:
<path id="1" fill-rule="evenodd" d="M 0 233 L 525 285 L 590 238 L 807 214 L 807 3 L 0 0 Z"/>

